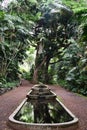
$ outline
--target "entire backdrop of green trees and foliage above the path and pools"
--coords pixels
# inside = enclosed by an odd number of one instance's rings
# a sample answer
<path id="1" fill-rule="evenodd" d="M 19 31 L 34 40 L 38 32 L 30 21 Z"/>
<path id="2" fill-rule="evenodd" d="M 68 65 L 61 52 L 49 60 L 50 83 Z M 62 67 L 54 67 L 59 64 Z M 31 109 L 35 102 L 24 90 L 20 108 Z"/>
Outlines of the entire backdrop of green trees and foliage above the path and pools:
<path id="1" fill-rule="evenodd" d="M 37 51 L 32 67 L 31 46 Z M 24 78 L 32 80 L 36 69 L 39 81 L 58 80 L 66 88 L 86 96 L 86 1 L 17 0 L 0 9 L 1 84 L 18 79 L 19 63 L 26 59 L 26 50 L 31 70 L 22 71 Z"/>

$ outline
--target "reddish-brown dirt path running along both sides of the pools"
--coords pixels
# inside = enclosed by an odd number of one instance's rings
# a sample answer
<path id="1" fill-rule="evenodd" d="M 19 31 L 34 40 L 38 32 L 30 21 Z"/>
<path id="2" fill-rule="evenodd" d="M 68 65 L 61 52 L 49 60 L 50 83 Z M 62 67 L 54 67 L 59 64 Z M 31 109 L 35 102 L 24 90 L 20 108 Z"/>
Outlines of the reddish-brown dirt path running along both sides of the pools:
<path id="1" fill-rule="evenodd" d="M 25 98 L 33 84 L 23 81 L 22 85 L 0 96 L 0 130 L 12 130 L 7 126 L 8 117 Z M 87 98 L 66 91 L 59 86 L 50 86 L 75 116 L 79 118 L 78 128 L 87 130 Z M 71 130 L 70 128 L 65 130 Z"/>

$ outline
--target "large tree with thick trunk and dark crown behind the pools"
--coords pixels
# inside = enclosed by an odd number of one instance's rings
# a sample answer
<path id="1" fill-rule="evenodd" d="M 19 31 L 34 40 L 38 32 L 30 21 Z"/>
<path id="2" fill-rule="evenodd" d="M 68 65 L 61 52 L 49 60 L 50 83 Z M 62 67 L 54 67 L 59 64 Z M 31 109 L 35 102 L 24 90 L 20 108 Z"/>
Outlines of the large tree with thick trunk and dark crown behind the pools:
<path id="1" fill-rule="evenodd" d="M 73 12 L 55 1 L 42 3 L 40 11 L 41 18 L 35 27 L 37 53 L 33 81 L 38 82 L 42 78 L 41 81 L 47 83 L 50 61 L 54 57 L 56 60 L 61 58 L 63 50 L 70 45 L 68 39 L 74 36 Z"/>

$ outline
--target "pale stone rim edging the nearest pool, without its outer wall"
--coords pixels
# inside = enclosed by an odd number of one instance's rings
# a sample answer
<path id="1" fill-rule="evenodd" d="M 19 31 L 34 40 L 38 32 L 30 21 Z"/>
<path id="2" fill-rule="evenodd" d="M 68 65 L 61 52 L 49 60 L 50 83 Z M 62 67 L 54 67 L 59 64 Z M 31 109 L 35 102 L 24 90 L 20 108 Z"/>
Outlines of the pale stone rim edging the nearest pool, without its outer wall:
<path id="1" fill-rule="evenodd" d="M 14 110 L 14 112 L 9 116 L 9 124 L 16 124 L 16 125 L 24 125 L 24 126 L 58 126 L 58 127 L 67 127 L 67 126 L 71 126 L 74 125 L 76 123 L 78 123 L 78 118 L 58 99 L 56 98 L 56 100 L 58 101 L 58 103 L 65 109 L 66 112 L 68 112 L 68 114 L 73 118 L 73 120 L 68 121 L 68 122 L 63 122 L 63 123 L 27 123 L 27 122 L 22 122 L 22 121 L 18 121 L 15 119 L 16 114 L 20 111 L 20 109 L 22 108 L 22 106 L 25 104 L 25 102 L 27 102 L 27 97 L 20 103 L 20 105 Z"/>

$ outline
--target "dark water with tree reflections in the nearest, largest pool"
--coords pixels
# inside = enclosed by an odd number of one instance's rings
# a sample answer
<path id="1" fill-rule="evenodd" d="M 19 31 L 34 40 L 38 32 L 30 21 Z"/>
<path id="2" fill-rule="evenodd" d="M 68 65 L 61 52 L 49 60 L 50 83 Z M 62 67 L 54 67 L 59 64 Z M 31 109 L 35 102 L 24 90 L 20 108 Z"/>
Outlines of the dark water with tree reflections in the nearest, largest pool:
<path id="1" fill-rule="evenodd" d="M 72 117 L 56 101 L 29 101 L 15 116 L 16 120 L 27 123 L 63 123 Z"/>

